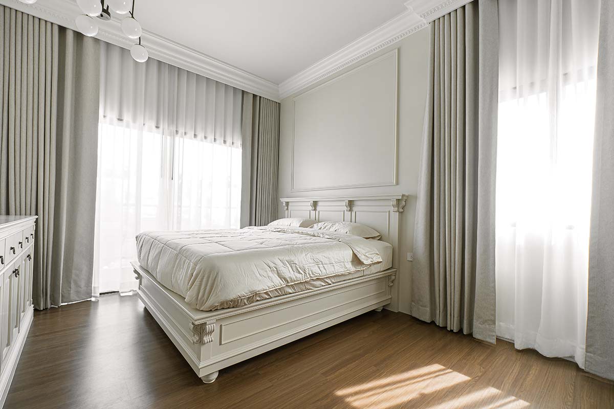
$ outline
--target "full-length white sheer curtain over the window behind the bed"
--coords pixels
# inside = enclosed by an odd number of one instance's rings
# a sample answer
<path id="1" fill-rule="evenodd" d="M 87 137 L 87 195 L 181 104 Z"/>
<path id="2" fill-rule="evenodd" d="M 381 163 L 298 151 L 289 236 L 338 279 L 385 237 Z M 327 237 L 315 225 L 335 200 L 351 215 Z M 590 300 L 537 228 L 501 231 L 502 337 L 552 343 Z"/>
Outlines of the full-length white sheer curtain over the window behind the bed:
<path id="1" fill-rule="evenodd" d="M 239 227 L 242 91 L 103 43 L 93 293 L 136 288 L 134 237 Z"/>

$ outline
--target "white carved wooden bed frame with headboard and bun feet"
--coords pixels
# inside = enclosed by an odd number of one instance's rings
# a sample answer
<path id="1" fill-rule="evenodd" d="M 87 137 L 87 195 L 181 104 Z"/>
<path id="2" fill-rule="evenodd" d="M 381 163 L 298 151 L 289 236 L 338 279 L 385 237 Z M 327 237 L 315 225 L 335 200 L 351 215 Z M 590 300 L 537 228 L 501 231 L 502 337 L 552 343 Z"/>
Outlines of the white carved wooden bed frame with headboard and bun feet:
<path id="1" fill-rule="evenodd" d="M 281 199 L 287 217 L 355 221 L 373 227 L 392 244 L 392 268 L 309 291 L 239 308 L 200 311 L 165 288 L 134 262 L 138 295 L 204 383 L 220 369 L 272 350 L 346 319 L 386 308 L 397 310 L 395 277 L 404 195 Z"/>

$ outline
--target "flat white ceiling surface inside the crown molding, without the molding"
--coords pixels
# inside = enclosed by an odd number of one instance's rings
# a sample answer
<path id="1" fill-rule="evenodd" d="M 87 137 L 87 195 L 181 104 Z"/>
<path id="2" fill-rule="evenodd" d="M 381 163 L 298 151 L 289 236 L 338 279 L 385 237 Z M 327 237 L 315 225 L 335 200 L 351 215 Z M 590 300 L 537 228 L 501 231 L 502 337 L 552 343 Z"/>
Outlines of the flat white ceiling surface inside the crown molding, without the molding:
<path id="1" fill-rule="evenodd" d="M 136 0 L 134 15 L 147 31 L 279 84 L 405 12 L 405 1 Z"/>

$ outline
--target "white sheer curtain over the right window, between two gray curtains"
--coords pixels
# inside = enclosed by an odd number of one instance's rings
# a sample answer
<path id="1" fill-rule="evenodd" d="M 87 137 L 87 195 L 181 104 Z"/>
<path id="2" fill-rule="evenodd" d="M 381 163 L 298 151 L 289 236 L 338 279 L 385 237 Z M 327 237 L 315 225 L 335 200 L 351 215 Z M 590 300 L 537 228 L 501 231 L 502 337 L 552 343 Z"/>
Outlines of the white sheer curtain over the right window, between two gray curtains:
<path id="1" fill-rule="evenodd" d="M 497 336 L 583 367 L 599 0 L 499 20 Z"/>

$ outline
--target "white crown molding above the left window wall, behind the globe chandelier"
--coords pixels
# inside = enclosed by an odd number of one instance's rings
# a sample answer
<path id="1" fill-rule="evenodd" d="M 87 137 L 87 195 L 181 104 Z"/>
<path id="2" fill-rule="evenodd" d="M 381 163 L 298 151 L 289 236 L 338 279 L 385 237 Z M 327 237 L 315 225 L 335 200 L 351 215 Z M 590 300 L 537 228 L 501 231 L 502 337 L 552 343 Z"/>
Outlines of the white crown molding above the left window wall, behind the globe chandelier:
<path id="1" fill-rule="evenodd" d="M 74 19 L 77 15 L 82 14 L 76 2 L 71 0 L 39 0 L 34 4 L 23 4 L 18 0 L 0 0 L 0 4 L 73 30 L 77 30 Z M 133 40 L 123 35 L 120 20 L 115 16 L 111 21 L 100 21 L 98 26 L 96 38 L 123 48 L 130 48 L 134 44 Z M 273 101 L 279 101 L 278 85 L 257 75 L 145 29 L 141 39 L 152 58 L 273 99 Z"/>

